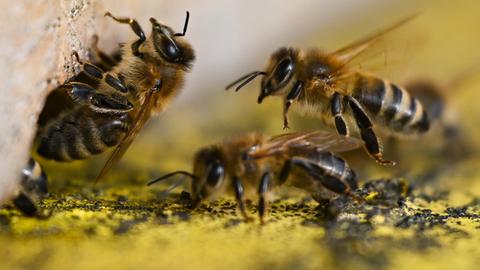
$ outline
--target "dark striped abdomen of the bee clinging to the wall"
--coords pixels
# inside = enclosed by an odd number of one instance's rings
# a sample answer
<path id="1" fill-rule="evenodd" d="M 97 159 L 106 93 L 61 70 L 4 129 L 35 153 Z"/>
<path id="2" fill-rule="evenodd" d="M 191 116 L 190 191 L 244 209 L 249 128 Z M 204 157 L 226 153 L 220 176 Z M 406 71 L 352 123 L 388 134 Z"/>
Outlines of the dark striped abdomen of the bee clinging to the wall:
<path id="1" fill-rule="evenodd" d="M 117 145 L 130 122 L 128 114 L 99 114 L 77 107 L 41 131 L 37 136 L 37 153 L 56 161 L 85 159 Z"/>

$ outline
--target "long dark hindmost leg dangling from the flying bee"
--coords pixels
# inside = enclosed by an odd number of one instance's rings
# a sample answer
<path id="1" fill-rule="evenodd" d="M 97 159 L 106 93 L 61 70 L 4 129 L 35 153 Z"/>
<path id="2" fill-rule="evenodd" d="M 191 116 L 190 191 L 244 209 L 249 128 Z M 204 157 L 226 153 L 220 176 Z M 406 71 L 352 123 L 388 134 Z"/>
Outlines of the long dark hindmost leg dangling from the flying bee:
<path id="1" fill-rule="evenodd" d="M 348 104 L 353 112 L 353 117 L 360 129 L 360 135 L 365 142 L 365 148 L 378 163 L 382 165 L 395 165 L 395 162 L 383 159 L 382 147 L 380 140 L 373 131 L 372 122 L 361 107 L 360 103 L 352 97 L 348 97 Z"/>

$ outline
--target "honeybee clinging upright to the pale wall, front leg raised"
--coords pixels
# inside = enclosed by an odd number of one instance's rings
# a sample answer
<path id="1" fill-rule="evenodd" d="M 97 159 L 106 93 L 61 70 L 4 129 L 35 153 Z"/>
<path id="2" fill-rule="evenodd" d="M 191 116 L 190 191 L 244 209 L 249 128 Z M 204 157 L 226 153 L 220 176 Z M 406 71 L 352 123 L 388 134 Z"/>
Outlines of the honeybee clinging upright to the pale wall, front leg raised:
<path id="1" fill-rule="evenodd" d="M 52 93 L 39 121 L 36 149 L 44 158 L 71 161 L 117 146 L 97 181 L 123 156 L 145 122 L 165 110 L 180 92 L 195 58 L 184 38 L 188 11 L 181 33 L 150 18 L 149 37 L 134 19 L 117 18 L 110 12 L 105 16 L 130 25 L 138 40 L 121 48 L 118 63 L 96 49 L 108 72 L 82 62 L 73 52 L 82 74 L 92 83 L 70 81 Z M 63 107 L 55 108 L 58 104 Z"/>

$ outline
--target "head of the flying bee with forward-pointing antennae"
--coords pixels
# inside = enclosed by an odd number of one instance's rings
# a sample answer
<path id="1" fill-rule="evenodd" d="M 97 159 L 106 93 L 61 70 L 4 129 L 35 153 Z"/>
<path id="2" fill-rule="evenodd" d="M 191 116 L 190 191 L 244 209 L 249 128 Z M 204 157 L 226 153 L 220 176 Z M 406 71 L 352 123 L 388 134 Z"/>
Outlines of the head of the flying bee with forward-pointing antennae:
<path id="1" fill-rule="evenodd" d="M 261 83 L 258 103 L 269 95 L 279 95 L 283 88 L 290 82 L 295 73 L 295 65 L 298 58 L 298 51 L 293 48 L 280 48 L 270 57 L 266 71 L 254 71 L 227 86 L 227 90 L 240 83 L 236 91 L 255 79 L 258 75 L 264 76 Z"/>

